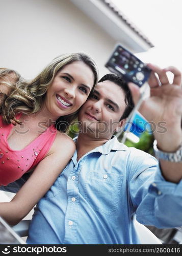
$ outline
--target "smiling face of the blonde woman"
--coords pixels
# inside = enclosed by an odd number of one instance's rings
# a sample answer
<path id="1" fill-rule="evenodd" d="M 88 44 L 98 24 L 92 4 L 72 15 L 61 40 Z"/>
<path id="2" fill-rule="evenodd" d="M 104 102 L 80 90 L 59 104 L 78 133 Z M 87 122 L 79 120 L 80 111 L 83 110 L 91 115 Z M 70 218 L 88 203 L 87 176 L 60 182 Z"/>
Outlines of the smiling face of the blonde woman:
<path id="1" fill-rule="evenodd" d="M 44 107 L 55 119 L 74 113 L 88 98 L 93 83 L 90 67 L 74 61 L 56 74 L 47 90 Z"/>

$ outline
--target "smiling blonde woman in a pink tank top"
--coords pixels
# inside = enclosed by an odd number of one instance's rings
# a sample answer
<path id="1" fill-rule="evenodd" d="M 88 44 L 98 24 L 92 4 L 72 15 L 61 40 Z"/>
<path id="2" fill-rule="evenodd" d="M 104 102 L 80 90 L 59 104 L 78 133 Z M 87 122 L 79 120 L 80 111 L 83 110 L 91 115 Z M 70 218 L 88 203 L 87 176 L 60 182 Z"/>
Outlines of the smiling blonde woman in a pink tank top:
<path id="1" fill-rule="evenodd" d="M 29 83 L 15 71 L 4 72 L 0 72 L 0 186 L 33 172 L 11 202 L 0 204 L 0 216 L 15 225 L 73 155 L 75 145 L 63 132 L 92 93 L 97 68 L 89 56 L 76 53 L 55 58 Z"/>

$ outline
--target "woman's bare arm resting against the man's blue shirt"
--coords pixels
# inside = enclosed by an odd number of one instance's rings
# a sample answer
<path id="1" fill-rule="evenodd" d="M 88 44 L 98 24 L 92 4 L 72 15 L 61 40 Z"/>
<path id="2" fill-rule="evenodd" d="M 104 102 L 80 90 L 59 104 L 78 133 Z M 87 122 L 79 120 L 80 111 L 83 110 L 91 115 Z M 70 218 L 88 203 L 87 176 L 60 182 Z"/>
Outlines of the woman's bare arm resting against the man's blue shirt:
<path id="1" fill-rule="evenodd" d="M 0 216 L 10 225 L 21 221 L 53 185 L 75 151 L 71 138 L 57 134 L 47 156 L 37 165 L 33 174 L 8 203 L 0 203 Z"/>

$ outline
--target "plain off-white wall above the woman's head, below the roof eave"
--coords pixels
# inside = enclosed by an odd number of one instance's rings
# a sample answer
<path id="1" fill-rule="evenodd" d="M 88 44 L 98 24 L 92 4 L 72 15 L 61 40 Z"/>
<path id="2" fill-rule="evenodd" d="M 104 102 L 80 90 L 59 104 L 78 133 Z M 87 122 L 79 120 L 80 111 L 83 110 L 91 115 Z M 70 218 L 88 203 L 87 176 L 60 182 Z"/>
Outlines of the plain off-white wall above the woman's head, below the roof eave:
<path id="1" fill-rule="evenodd" d="M 85 1 L 85 0 L 78 0 Z M 0 0 L 0 67 L 33 78 L 56 56 L 84 51 L 100 77 L 115 41 L 69 0 Z"/>

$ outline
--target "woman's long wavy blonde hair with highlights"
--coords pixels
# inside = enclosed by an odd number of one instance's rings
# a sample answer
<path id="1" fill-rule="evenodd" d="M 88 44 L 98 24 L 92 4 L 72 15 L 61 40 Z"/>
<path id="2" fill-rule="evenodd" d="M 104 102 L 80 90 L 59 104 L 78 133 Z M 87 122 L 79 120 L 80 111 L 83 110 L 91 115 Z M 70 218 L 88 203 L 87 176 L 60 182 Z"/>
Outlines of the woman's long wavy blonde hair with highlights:
<path id="1" fill-rule="evenodd" d="M 30 82 L 23 79 L 14 70 L 0 70 L 0 79 L 4 79 L 4 83 L 9 87 L 9 93 L 8 95 L 3 95 L 3 103 L 0 106 L 0 114 L 3 116 L 3 121 L 7 124 L 13 123 L 16 125 L 20 121 L 15 118 L 15 114 L 34 114 L 39 112 L 49 85 L 57 72 L 74 61 L 82 61 L 92 70 L 94 83 L 91 94 L 97 84 L 98 70 L 95 61 L 85 53 L 63 54 L 56 57 Z M 8 79 L 10 74 L 13 74 L 15 78 L 13 82 Z M 76 119 L 77 113 L 78 111 L 58 118 L 55 125 L 57 130 L 66 132 L 71 122 Z"/>

